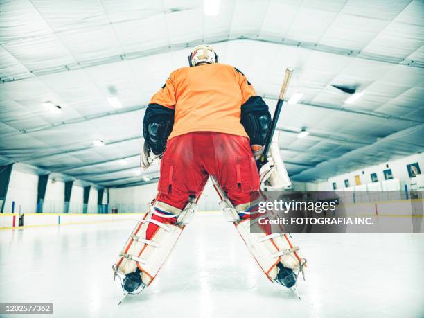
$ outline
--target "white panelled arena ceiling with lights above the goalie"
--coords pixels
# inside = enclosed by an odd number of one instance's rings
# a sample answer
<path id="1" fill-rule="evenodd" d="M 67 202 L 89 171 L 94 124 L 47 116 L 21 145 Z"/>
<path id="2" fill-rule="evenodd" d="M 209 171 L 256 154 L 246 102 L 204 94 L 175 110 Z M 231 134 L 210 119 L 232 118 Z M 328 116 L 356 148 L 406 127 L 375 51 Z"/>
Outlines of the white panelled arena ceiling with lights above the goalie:
<path id="1" fill-rule="evenodd" d="M 154 182 L 157 167 L 137 169 L 145 107 L 200 43 L 272 110 L 294 68 L 287 98 L 303 96 L 278 125 L 294 180 L 423 151 L 423 1 L 218 2 L 209 16 L 204 1 L 0 0 L 0 163 L 96 186 Z M 347 104 L 332 85 L 363 95 Z"/>

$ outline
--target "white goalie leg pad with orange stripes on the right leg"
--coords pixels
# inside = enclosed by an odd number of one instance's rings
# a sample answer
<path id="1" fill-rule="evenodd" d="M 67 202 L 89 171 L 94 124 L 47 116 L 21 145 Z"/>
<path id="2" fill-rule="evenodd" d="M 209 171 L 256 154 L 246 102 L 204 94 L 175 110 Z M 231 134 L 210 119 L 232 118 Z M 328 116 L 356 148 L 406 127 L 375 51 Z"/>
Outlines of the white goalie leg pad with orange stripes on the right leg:
<path id="1" fill-rule="evenodd" d="M 245 241 L 247 248 L 254 256 L 256 263 L 272 281 L 278 273 L 276 265 L 282 263 L 284 267 L 299 271 L 302 257 L 299 247 L 293 245 L 288 233 L 273 233 L 267 235 L 265 231 L 251 233 L 251 220 L 240 221 L 236 228 Z M 258 227 L 260 228 L 260 227 Z"/>

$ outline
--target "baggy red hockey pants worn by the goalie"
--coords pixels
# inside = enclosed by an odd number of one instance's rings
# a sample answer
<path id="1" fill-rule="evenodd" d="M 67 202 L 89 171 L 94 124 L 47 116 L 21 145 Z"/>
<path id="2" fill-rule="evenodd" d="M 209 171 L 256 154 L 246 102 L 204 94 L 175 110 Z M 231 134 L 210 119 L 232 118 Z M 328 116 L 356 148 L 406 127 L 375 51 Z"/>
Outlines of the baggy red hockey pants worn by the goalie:
<path id="1" fill-rule="evenodd" d="M 161 160 L 156 200 L 183 209 L 189 195 L 201 195 L 209 175 L 216 177 L 233 205 L 250 202 L 250 192 L 259 189 L 259 175 L 249 139 L 219 132 L 190 132 L 170 139 Z M 148 236 L 156 227 L 149 226 Z"/>

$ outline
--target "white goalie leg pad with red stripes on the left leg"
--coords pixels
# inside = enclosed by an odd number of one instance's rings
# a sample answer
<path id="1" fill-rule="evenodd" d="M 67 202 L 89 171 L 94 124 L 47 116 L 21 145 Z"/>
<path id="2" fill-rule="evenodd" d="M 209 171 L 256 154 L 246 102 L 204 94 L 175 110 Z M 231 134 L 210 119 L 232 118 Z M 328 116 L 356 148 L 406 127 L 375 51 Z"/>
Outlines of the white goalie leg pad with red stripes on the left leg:
<path id="1" fill-rule="evenodd" d="M 115 267 L 121 274 L 130 274 L 139 267 L 142 272 L 141 279 L 145 285 L 153 281 L 184 229 L 183 225 L 153 220 L 153 211 L 154 207 L 150 206 L 150 211 L 145 218 L 136 225 L 119 254 Z M 170 211 L 170 213 L 173 212 Z M 148 240 L 146 231 L 149 223 L 156 224 L 158 228 Z"/>

